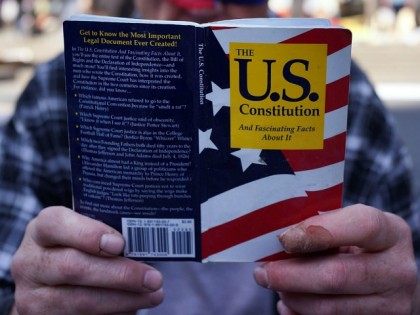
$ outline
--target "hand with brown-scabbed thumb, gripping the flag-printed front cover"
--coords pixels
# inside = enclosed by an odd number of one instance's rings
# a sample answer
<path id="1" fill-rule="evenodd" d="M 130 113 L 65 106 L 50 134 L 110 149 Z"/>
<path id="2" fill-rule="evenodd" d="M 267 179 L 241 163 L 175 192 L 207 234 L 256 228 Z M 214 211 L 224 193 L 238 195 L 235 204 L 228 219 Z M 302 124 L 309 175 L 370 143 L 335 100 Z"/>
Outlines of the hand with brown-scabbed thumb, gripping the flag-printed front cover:
<path id="1" fill-rule="evenodd" d="M 290 253 L 324 251 L 255 270 L 257 283 L 279 292 L 281 314 L 410 314 L 416 265 L 396 215 L 355 205 L 309 218 L 280 241 Z"/>

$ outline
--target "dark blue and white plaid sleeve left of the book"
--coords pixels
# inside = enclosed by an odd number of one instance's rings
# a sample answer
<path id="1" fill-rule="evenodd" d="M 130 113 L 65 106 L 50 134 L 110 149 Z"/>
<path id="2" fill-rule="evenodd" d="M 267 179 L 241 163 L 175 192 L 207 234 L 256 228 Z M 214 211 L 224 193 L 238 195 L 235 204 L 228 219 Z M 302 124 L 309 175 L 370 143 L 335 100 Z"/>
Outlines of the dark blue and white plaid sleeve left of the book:
<path id="1" fill-rule="evenodd" d="M 0 129 L 0 310 L 13 302 L 12 256 L 29 221 L 53 204 L 70 206 L 62 58 L 42 65 Z"/>

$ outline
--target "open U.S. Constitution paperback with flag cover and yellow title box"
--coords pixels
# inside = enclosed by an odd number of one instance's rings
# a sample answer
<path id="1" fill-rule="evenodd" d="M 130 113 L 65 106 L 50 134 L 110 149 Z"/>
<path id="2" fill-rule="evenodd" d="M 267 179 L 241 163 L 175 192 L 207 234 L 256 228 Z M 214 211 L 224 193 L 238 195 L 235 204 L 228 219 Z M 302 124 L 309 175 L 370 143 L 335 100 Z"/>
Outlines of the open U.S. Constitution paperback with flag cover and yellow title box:
<path id="1" fill-rule="evenodd" d="M 342 203 L 351 34 L 318 19 L 64 23 L 75 210 L 141 260 L 286 257 Z"/>

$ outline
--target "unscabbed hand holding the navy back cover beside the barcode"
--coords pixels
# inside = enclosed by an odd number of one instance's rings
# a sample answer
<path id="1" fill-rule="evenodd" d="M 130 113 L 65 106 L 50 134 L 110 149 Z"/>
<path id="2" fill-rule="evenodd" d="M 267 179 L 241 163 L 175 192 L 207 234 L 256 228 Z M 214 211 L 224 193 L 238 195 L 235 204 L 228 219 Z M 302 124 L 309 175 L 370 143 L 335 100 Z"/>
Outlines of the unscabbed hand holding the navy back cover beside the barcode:
<path id="1" fill-rule="evenodd" d="M 153 307 L 162 275 L 117 257 L 124 240 L 111 227 L 70 209 L 44 209 L 12 262 L 15 307 L 24 314 L 112 314 Z"/>

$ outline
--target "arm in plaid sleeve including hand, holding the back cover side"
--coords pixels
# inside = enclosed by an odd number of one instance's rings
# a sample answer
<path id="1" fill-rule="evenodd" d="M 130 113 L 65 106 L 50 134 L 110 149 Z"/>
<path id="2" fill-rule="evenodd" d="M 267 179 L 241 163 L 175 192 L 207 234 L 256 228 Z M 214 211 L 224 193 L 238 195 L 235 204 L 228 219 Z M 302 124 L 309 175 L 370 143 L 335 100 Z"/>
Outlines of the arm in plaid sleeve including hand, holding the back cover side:
<path id="1" fill-rule="evenodd" d="M 161 274 L 117 257 L 117 231 L 51 207 L 71 205 L 62 56 L 37 69 L 0 133 L 0 194 L 2 314 L 13 299 L 19 314 L 125 313 L 160 303 Z"/>

